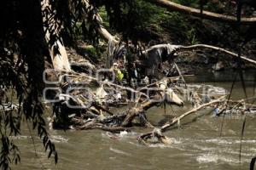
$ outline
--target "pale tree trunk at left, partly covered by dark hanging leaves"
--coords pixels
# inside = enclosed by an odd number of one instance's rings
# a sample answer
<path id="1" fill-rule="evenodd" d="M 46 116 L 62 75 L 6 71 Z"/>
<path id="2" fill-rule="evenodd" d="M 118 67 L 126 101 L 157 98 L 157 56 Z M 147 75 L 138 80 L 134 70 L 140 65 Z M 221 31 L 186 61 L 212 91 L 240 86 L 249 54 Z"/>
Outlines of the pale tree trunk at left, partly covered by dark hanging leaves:
<path id="1" fill-rule="evenodd" d="M 50 16 L 54 11 L 50 6 L 49 0 L 43 0 L 41 10 L 44 21 L 45 40 L 48 43 L 49 55 L 52 60 L 55 71 L 71 71 L 67 51 L 60 37 L 60 26 L 57 26 L 58 21 Z M 59 28 L 59 29 L 58 29 Z M 50 34 L 55 34 L 55 42 L 50 42 Z M 57 49 L 57 52 L 56 52 Z"/>

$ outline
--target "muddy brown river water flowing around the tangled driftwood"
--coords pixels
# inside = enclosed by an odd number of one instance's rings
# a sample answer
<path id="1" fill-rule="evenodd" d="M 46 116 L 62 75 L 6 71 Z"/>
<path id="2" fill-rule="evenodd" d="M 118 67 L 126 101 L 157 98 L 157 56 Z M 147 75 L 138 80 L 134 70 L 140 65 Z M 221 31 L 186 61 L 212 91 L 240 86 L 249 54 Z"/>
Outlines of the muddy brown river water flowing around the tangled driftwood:
<path id="1" fill-rule="evenodd" d="M 248 97 L 253 96 L 254 76 L 255 71 L 245 72 Z M 233 73 L 218 72 L 187 79 L 189 82 L 212 84 L 230 90 L 233 78 Z M 232 99 L 242 98 L 241 82 L 236 82 Z M 168 106 L 165 113 L 164 108 L 154 107 L 147 115 L 149 121 L 156 125 L 188 109 L 187 105 L 183 108 Z M 183 119 L 181 127 L 173 127 L 165 133 L 173 144 L 152 144 L 149 147 L 138 144 L 137 136 L 151 129 L 137 128 L 133 133 L 120 133 L 116 139 L 109 138 L 107 132 L 99 130 L 64 132 L 51 129 L 49 133 L 59 155 L 56 166 L 53 159 L 47 158 L 37 135 L 33 134 L 35 153 L 32 137 L 24 125 L 16 140 L 20 146 L 21 163 L 13 169 L 248 169 L 251 158 L 256 156 L 256 115 L 247 116 L 239 161 L 242 120 L 243 116 L 226 116 L 220 137 L 222 117 L 213 117 L 210 110 L 199 111 Z"/>

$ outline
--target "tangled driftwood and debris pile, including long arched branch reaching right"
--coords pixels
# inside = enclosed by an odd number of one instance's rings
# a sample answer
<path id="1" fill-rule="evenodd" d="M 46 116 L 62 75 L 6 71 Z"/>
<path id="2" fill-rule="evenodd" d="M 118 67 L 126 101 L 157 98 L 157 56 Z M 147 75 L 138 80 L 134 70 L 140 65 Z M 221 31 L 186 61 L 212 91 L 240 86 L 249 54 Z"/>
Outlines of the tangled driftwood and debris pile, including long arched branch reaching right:
<path id="1" fill-rule="evenodd" d="M 113 44 L 110 43 L 110 45 Z M 119 55 L 119 53 L 113 52 L 114 49 L 110 48 L 110 45 L 108 54 Z M 121 49 L 120 55 L 126 53 L 123 51 L 125 48 L 122 47 L 117 48 Z M 183 117 L 203 108 L 213 107 L 215 116 L 234 113 L 234 111 L 239 114 L 252 113 L 255 105 L 249 105 L 246 99 L 241 101 L 225 99 L 228 93 L 224 88 L 210 85 L 191 85 L 184 82 L 181 71 L 173 61 L 174 55 L 179 51 L 194 48 L 212 48 L 237 57 L 237 54 L 223 48 L 204 44 L 189 47 L 161 44 L 145 50 L 141 56 L 144 61 L 136 60 L 132 62 L 133 65 L 125 65 L 123 55 L 108 59 L 117 62 L 107 63 L 108 67 L 113 65 L 113 68 L 110 69 L 96 68 L 88 61 L 73 62 L 73 71 L 59 71 L 55 76 L 59 77 L 56 78 L 58 81 L 55 85 L 49 83 L 49 87 L 51 87 L 49 89 L 55 94 L 54 99 L 50 101 L 54 113 L 53 127 L 81 130 L 98 128 L 112 133 L 130 131 L 132 127 L 137 126 L 150 127 L 154 128 L 153 132 L 142 134 L 138 137 L 139 141 L 147 144 L 148 139 L 154 138 L 158 142 L 168 144 L 171 142 L 170 139 L 162 133 L 168 127 L 172 127 L 176 123 L 179 124 Z M 244 56 L 241 58 L 256 63 Z M 165 61 L 169 65 L 169 71 L 166 73 L 160 68 Z M 116 65 L 121 64 L 125 65 L 123 69 L 128 73 L 133 71 L 134 76 L 130 78 L 126 76 L 126 79 L 123 79 L 125 77 L 124 72 L 121 71 L 121 68 L 116 68 Z M 144 66 L 139 68 L 137 65 Z M 138 76 L 138 71 L 142 69 L 146 72 L 146 75 L 143 75 L 144 78 Z M 162 70 L 160 73 L 165 76 L 152 82 L 156 70 Z M 174 71 L 179 76 L 173 77 L 172 72 Z M 147 76 L 150 76 L 151 82 L 148 81 Z M 136 81 L 132 83 L 132 79 Z M 192 109 L 181 116 L 173 117 L 172 121 L 166 122 L 161 127 L 154 127 L 148 121 L 147 110 L 153 106 L 166 104 L 183 106 L 185 103 L 190 103 L 193 106 Z M 112 107 L 119 106 L 126 106 L 128 109 L 119 113 L 111 110 Z"/>

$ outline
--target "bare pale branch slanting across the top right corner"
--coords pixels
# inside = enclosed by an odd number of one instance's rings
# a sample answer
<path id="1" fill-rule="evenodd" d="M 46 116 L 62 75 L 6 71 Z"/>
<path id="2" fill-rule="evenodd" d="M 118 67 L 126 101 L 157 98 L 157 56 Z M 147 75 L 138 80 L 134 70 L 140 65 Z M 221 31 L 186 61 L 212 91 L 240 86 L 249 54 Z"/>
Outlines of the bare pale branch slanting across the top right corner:
<path id="1" fill-rule="evenodd" d="M 172 11 L 177 11 L 184 14 L 191 14 L 193 16 L 201 17 L 207 20 L 215 20 L 215 21 L 227 22 L 227 23 L 237 22 L 237 19 L 234 16 L 225 15 L 225 14 L 216 14 L 208 11 L 202 11 L 201 13 L 200 9 L 186 7 L 177 3 L 173 3 L 168 0 L 149 0 L 149 2 L 164 8 L 168 8 Z M 252 18 L 241 17 L 241 24 L 253 24 L 255 22 L 256 22 L 256 17 L 252 17 Z"/>

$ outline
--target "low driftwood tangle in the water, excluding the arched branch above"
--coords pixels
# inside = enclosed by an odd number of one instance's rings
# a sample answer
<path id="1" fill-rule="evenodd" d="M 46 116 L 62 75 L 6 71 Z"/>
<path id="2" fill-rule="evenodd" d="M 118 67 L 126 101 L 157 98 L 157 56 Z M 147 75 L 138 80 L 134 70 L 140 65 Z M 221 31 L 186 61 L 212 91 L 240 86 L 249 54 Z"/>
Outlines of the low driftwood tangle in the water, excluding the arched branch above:
<path id="1" fill-rule="evenodd" d="M 249 105 L 247 99 L 231 101 L 224 88 L 210 85 L 191 85 L 183 82 L 183 77 L 165 77 L 160 81 L 146 84 L 143 87 L 131 88 L 111 82 L 108 79 L 95 77 L 84 72 L 70 71 L 62 73 L 53 105 L 53 127 L 71 129 L 102 129 L 111 133 L 131 131 L 134 127 L 153 128 L 137 139 L 148 144 L 150 139 L 170 144 L 172 141 L 162 133 L 168 127 L 179 123 L 185 116 L 206 107 L 212 107 L 215 116 L 239 112 L 247 114 L 255 112 L 256 105 Z M 207 89 L 207 93 L 206 92 Z M 151 107 L 160 105 L 183 106 L 189 103 L 191 111 L 173 117 L 161 127 L 154 127 L 147 118 Z M 113 107 L 124 106 L 125 111 L 113 112 Z"/>

